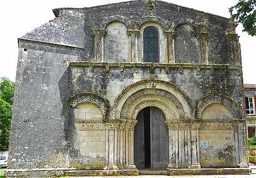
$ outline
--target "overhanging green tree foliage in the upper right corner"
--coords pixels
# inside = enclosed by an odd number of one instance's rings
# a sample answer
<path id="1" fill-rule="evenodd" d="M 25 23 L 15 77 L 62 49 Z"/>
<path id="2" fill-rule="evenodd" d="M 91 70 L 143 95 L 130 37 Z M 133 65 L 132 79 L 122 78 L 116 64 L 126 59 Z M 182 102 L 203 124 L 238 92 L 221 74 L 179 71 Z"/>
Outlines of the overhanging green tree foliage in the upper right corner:
<path id="1" fill-rule="evenodd" d="M 231 8 L 237 11 L 232 18 L 243 24 L 243 31 L 252 36 L 256 35 L 256 0 L 239 0 Z"/>

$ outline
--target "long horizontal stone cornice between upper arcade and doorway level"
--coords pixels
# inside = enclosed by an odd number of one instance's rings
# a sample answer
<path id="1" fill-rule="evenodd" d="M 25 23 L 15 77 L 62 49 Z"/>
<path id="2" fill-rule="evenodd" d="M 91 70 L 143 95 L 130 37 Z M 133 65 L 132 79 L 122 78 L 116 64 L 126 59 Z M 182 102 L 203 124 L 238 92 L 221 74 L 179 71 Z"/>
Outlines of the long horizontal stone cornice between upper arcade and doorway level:
<path id="1" fill-rule="evenodd" d="M 233 69 L 242 70 L 242 65 L 228 64 L 175 64 L 175 63 L 100 63 L 100 62 L 70 62 L 71 67 L 155 67 L 155 68 L 200 68 L 200 69 Z"/>

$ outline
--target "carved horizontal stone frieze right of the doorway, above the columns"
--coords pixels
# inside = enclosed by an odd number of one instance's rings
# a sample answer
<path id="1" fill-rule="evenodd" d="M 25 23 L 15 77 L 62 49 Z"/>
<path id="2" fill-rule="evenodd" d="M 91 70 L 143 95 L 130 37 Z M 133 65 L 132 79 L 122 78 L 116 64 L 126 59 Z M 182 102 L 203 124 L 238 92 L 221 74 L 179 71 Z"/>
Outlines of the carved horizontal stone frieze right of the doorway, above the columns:
<path id="1" fill-rule="evenodd" d="M 236 129 L 239 123 L 245 123 L 245 120 L 203 120 L 203 119 L 183 119 L 166 120 L 169 130 L 232 130 Z"/>

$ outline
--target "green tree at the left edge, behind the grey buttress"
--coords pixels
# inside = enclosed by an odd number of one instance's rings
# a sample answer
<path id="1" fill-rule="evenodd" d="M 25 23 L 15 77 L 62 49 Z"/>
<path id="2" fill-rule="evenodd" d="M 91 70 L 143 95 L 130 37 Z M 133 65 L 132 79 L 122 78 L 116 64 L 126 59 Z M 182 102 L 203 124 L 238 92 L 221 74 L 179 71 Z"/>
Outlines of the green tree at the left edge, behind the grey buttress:
<path id="1" fill-rule="evenodd" d="M 11 131 L 14 83 L 7 79 L 0 80 L 0 151 L 7 151 Z"/>

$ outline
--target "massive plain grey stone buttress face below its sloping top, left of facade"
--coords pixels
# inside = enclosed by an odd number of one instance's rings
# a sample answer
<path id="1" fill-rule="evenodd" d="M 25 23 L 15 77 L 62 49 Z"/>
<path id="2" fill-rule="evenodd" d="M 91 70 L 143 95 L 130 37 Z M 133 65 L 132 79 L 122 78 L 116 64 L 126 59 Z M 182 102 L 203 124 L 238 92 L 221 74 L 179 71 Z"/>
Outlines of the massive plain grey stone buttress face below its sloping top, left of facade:
<path id="1" fill-rule="evenodd" d="M 69 61 L 83 50 L 19 40 L 9 168 L 66 167 Z"/>

